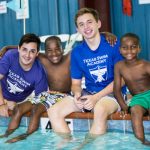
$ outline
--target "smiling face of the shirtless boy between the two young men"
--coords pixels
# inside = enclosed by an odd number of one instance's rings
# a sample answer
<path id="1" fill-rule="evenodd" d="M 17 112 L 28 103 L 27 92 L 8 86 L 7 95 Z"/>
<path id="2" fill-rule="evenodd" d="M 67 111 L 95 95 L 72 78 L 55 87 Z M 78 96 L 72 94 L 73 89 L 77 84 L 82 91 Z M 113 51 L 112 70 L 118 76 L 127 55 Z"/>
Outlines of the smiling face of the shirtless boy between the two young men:
<path id="1" fill-rule="evenodd" d="M 63 50 L 60 45 L 60 42 L 58 42 L 55 39 L 47 41 L 45 50 L 47 58 L 51 63 L 57 64 L 61 61 L 63 57 Z"/>

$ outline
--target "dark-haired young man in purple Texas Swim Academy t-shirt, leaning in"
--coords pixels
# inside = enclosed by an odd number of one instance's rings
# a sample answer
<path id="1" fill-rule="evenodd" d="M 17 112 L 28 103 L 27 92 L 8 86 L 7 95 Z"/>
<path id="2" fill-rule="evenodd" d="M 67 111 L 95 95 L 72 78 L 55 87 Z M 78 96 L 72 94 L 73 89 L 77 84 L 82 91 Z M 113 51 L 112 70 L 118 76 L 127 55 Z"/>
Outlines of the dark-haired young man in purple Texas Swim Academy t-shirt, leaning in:
<path id="1" fill-rule="evenodd" d="M 47 77 L 40 61 L 40 39 L 35 34 L 22 36 L 19 48 L 7 52 L 0 60 L 0 115 L 26 100 L 31 94 L 47 91 Z M 31 109 L 31 107 L 29 107 Z"/>

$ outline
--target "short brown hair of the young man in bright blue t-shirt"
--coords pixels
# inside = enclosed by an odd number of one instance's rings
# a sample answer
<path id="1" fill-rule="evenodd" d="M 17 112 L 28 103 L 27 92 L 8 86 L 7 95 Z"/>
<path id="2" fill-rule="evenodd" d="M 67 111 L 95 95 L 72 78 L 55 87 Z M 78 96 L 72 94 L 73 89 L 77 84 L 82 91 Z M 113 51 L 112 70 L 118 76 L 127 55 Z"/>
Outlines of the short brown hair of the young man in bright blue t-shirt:
<path id="1" fill-rule="evenodd" d="M 93 15 L 93 17 L 94 17 L 94 19 L 96 20 L 96 22 L 98 22 L 98 20 L 99 20 L 99 13 L 98 13 L 98 11 L 97 10 L 95 10 L 95 9 L 92 9 L 92 8 L 81 8 L 78 12 L 77 12 L 77 14 L 75 15 L 75 25 L 76 25 L 76 27 L 78 26 L 77 25 L 77 19 L 78 19 L 78 17 L 80 17 L 80 16 L 82 16 L 82 15 L 84 15 L 84 14 L 91 14 L 91 15 Z"/>

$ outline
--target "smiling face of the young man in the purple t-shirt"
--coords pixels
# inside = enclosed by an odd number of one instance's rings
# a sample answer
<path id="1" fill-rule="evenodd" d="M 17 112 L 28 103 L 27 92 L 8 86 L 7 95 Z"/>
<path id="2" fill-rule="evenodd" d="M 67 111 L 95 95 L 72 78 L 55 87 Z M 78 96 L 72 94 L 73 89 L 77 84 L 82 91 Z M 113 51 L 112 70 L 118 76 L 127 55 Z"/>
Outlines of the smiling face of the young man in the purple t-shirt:
<path id="1" fill-rule="evenodd" d="M 23 43 L 21 47 L 19 47 L 18 52 L 21 67 L 26 71 L 30 70 L 38 56 L 37 43 Z"/>

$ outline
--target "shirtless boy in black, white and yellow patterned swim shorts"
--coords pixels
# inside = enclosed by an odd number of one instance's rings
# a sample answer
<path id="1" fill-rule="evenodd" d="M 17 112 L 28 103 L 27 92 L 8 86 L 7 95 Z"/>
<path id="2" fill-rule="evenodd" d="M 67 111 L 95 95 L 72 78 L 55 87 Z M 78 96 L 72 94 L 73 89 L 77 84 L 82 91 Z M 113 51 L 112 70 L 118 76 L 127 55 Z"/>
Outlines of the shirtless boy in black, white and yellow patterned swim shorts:
<path id="1" fill-rule="evenodd" d="M 115 36 L 110 33 L 103 34 L 113 45 L 115 42 Z M 51 36 L 46 39 L 45 54 L 39 54 L 38 58 L 44 65 L 44 68 L 47 72 L 50 91 L 41 93 L 38 97 L 35 97 L 26 103 L 22 103 L 16 108 L 16 112 L 13 114 L 9 127 L 3 136 L 8 136 L 10 134 L 9 131 L 14 131 L 18 128 L 21 117 L 23 114 L 29 111 L 29 107 L 32 107 L 32 116 L 27 132 L 8 140 L 7 142 L 9 143 L 23 140 L 35 132 L 39 127 L 41 114 L 45 112 L 51 105 L 56 103 L 57 100 L 59 101 L 62 97 L 66 96 L 65 93 L 70 93 L 71 91 L 70 52 L 66 55 L 63 55 L 61 40 L 58 37 Z"/>

